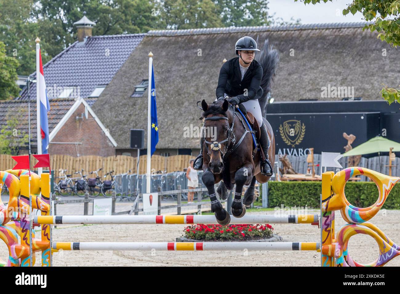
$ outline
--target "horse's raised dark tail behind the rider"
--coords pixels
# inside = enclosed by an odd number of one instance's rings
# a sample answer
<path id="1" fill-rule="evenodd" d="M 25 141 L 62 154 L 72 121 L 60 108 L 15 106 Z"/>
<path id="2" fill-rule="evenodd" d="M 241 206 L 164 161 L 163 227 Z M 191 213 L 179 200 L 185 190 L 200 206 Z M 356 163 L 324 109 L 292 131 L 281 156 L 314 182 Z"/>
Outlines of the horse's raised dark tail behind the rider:
<path id="1" fill-rule="evenodd" d="M 258 37 L 256 42 L 258 43 Z M 268 39 L 266 39 L 262 50 L 257 52 L 255 58 L 258 63 L 261 64 L 262 70 L 264 71 L 260 84 L 264 93 L 260 98 L 258 98 L 258 102 L 261 106 L 262 116 L 266 117 L 268 94 L 271 92 L 271 82 L 274 79 L 276 67 L 279 62 L 279 52 L 278 50 L 273 49 L 272 45 L 268 46 Z"/>

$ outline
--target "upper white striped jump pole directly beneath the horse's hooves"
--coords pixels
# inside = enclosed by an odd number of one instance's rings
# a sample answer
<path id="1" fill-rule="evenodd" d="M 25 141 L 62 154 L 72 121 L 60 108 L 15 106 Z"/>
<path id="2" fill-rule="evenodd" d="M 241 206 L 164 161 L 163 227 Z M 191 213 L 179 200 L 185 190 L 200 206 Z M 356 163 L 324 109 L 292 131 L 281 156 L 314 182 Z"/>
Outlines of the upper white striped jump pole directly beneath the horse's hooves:
<path id="1" fill-rule="evenodd" d="M 230 224 L 318 224 L 318 214 L 231 216 Z M 213 215 L 35 216 L 36 224 L 218 224 Z"/>

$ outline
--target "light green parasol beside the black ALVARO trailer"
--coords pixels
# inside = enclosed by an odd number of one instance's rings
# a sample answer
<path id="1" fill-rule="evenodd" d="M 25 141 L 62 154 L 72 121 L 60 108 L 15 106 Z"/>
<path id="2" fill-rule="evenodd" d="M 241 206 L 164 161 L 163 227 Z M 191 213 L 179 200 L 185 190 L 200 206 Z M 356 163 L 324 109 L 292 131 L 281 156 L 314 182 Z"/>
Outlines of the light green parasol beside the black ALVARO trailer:
<path id="1" fill-rule="evenodd" d="M 400 151 L 400 143 L 388 140 L 386 138 L 376 136 L 368 140 L 352 150 L 343 154 L 344 156 L 362 155 L 376 152 L 389 152 L 390 148 L 393 147 L 392 151 Z"/>

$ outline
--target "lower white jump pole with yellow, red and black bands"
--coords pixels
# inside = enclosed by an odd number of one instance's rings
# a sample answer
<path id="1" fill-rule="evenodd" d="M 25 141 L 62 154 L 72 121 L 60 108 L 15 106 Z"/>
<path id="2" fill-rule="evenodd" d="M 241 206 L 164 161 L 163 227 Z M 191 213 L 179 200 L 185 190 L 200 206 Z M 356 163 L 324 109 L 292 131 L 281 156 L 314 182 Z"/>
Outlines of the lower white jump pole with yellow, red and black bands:
<path id="1" fill-rule="evenodd" d="M 53 242 L 56 250 L 317 251 L 320 242 Z"/>

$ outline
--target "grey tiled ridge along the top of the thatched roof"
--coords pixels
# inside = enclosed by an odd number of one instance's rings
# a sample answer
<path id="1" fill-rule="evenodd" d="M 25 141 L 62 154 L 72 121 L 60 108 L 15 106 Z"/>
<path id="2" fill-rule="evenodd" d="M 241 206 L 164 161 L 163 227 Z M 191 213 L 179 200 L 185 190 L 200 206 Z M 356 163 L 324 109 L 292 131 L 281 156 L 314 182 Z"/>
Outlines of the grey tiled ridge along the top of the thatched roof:
<path id="1" fill-rule="evenodd" d="M 197 34 L 222 34 L 235 32 L 265 32 L 265 31 L 284 31 L 284 30 L 312 30 L 328 28 L 363 28 L 372 22 L 336 22 L 326 24 L 290 24 L 286 26 L 237 26 L 230 28 L 196 28 L 188 30 L 150 30 L 148 36 L 178 36 L 178 35 L 197 35 Z"/>

